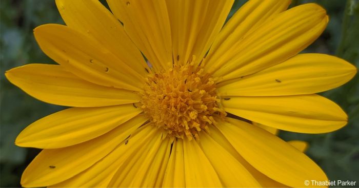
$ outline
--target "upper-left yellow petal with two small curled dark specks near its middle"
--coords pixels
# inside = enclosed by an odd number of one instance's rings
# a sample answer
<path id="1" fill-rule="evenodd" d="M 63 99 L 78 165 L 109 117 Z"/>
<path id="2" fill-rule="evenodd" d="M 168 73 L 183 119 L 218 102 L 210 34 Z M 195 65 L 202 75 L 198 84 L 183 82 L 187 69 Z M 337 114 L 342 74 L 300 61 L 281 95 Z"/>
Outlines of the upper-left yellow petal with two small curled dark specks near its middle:
<path id="1" fill-rule="evenodd" d="M 141 74 L 74 29 L 47 24 L 35 28 L 34 35 L 45 54 L 78 77 L 102 86 L 135 91 L 144 86 Z"/>

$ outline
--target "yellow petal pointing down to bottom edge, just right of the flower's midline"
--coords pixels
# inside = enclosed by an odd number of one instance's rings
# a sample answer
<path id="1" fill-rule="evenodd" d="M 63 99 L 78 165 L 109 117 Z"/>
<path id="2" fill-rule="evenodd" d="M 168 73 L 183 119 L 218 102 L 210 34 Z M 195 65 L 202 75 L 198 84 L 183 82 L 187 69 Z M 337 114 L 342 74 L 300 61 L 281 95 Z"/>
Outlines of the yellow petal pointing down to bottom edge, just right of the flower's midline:
<path id="1" fill-rule="evenodd" d="M 186 187 L 220 187 L 212 164 L 195 140 L 183 140 Z"/>

